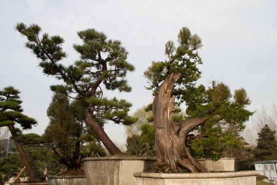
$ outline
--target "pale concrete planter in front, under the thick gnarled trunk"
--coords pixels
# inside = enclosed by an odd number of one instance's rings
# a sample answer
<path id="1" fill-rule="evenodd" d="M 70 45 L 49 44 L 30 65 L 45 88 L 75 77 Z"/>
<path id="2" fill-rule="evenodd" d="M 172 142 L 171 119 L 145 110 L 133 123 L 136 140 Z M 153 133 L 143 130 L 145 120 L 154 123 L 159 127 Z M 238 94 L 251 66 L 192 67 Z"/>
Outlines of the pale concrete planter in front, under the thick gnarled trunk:
<path id="1" fill-rule="evenodd" d="M 221 173 L 134 173 L 136 185 L 253 185 L 258 171 Z"/>

